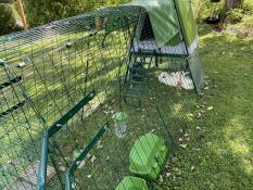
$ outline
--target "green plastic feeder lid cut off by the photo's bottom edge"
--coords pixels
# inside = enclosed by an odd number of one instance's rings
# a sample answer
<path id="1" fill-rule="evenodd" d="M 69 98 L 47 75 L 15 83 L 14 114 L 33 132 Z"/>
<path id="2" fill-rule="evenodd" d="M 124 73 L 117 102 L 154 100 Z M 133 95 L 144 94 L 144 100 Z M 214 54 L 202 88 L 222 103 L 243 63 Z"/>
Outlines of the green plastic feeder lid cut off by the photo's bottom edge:
<path id="1" fill-rule="evenodd" d="M 125 177 L 116 190 L 149 190 L 144 179 L 137 177 Z"/>

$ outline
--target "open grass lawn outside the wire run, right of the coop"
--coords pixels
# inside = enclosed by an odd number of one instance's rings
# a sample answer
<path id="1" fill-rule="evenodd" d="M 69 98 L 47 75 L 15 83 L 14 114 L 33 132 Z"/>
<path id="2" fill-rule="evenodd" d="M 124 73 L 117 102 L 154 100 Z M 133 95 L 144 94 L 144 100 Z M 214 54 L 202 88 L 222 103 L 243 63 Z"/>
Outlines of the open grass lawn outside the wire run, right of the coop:
<path id="1" fill-rule="evenodd" d="M 201 27 L 208 78 L 192 114 L 202 116 L 192 118 L 188 147 L 169 164 L 164 189 L 252 189 L 253 38 L 245 37 L 253 30 L 252 21 L 249 16 L 224 33 Z M 231 34 L 231 28 L 238 30 Z M 207 114 L 204 107 L 210 107 Z"/>

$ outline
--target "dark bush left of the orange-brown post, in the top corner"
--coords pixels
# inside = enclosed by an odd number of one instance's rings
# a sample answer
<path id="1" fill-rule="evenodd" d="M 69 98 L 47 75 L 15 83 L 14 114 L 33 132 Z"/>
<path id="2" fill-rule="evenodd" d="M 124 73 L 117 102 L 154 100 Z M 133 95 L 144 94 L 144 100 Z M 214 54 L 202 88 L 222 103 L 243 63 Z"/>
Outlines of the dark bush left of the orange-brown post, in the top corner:
<path id="1" fill-rule="evenodd" d="M 4 35 L 15 28 L 16 20 L 10 4 L 0 3 L 0 35 Z"/>

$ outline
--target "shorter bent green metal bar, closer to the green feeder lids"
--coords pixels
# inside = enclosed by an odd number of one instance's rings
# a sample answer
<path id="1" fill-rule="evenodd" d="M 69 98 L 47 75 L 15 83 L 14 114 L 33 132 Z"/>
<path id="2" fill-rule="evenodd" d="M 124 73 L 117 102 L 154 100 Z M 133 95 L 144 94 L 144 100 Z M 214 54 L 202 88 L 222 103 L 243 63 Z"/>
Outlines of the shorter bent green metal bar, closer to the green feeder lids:
<path id="1" fill-rule="evenodd" d="M 109 127 L 109 123 L 106 122 L 101 129 L 98 131 L 98 134 L 93 137 L 93 139 L 89 142 L 89 144 L 86 147 L 86 149 L 76 157 L 76 160 L 71 164 L 71 167 L 66 172 L 65 176 L 65 190 L 72 190 L 72 176 L 78 168 L 79 164 L 89 154 L 90 150 L 97 144 L 97 142 L 100 140 L 100 138 L 103 136 L 103 134 L 106 131 Z"/>

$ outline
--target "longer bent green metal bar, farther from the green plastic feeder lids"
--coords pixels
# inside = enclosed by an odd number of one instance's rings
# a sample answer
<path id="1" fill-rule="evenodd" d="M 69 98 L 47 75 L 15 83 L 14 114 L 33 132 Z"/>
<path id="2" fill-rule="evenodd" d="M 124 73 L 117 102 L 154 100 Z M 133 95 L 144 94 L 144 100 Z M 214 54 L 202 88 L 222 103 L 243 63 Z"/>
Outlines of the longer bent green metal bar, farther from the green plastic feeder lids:
<path id="1" fill-rule="evenodd" d="M 39 163 L 39 174 L 37 181 L 37 189 L 46 189 L 47 180 L 47 165 L 49 154 L 49 139 L 55 135 L 73 116 L 75 116 L 89 101 L 96 96 L 94 90 L 89 92 L 81 101 L 79 101 L 72 110 L 63 115 L 58 122 L 55 122 L 42 136 L 41 156 Z"/>

